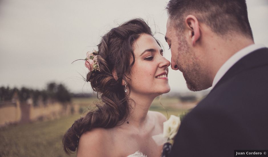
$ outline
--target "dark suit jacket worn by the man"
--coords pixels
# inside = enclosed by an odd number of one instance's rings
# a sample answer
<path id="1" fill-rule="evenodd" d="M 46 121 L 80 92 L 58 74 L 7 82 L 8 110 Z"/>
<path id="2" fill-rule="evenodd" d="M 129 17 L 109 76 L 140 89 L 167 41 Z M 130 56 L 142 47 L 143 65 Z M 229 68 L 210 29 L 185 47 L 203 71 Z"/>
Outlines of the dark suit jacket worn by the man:
<path id="1" fill-rule="evenodd" d="M 233 65 L 182 120 L 170 156 L 234 156 L 268 149 L 268 49 Z"/>

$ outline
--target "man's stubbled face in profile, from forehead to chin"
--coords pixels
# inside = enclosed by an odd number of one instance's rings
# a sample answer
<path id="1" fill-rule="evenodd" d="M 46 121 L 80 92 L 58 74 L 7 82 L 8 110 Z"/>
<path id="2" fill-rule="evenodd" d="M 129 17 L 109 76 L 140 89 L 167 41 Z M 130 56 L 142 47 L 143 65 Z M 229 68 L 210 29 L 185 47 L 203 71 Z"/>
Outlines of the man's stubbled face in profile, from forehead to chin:
<path id="1" fill-rule="evenodd" d="M 186 35 L 184 31 L 174 26 L 172 20 L 168 19 L 165 39 L 171 50 L 171 68 L 182 72 L 189 90 L 207 89 L 206 72 L 202 69 L 201 62 L 190 42 L 187 42 Z"/>

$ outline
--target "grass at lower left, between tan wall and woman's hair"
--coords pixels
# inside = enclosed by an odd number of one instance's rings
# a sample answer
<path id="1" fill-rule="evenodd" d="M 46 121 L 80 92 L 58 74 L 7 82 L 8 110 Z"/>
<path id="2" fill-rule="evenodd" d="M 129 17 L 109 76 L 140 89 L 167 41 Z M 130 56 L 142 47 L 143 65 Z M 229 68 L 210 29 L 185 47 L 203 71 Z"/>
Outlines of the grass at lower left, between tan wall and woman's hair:
<path id="1" fill-rule="evenodd" d="M 66 156 L 62 149 L 62 136 L 76 118 L 79 118 L 78 114 L 57 120 L 1 128 L 0 156 Z"/>

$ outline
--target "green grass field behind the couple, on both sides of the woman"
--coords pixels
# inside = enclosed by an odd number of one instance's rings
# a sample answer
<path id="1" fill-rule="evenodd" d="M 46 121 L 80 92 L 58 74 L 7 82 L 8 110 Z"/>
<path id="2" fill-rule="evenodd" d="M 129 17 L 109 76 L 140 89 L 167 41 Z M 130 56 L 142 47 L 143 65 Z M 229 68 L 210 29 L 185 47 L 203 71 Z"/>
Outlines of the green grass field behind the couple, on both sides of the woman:
<path id="1" fill-rule="evenodd" d="M 81 108 L 86 110 L 94 98 L 74 99 L 73 103 L 81 104 Z M 155 99 L 150 110 L 159 111 L 167 116 L 183 114 L 190 107 L 174 107 L 180 103 L 176 98 Z M 173 106 L 173 107 L 172 107 Z M 178 105 L 179 106 L 179 105 Z M 186 104 L 187 106 L 187 104 Z M 64 132 L 73 124 L 80 114 L 61 117 L 56 120 L 33 122 L 29 124 L 19 124 L 0 128 L 0 157 L 63 157 L 67 156 L 62 149 L 62 136 Z M 73 154 L 72 156 L 76 156 Z"/>

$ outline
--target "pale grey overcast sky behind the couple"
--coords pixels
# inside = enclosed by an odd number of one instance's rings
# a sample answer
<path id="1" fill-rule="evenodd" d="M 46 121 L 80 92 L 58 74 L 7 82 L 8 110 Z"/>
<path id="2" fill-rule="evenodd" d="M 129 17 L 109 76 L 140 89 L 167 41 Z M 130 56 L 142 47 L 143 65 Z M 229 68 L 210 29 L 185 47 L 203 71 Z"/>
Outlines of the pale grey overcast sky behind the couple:
<path id="1" fill-rule="evenodd" d="M 43 89 L 50 81 L 72 92 L 90 92 L 82 76 L 86 52 L 100 36 L 134 17 L 144 18 L 153 31 L 165 34 L 168 0 L 0 0 L 0 86 Z M 268 46 L 268 0 L 248 0 L 255 43 Z M 164 35 L 156 34 L 171 54 Z M 81 76 L 82 75 L 82 76 Z M 171 91 L 188 91 L 180 71 L 170 70 Z"/>

